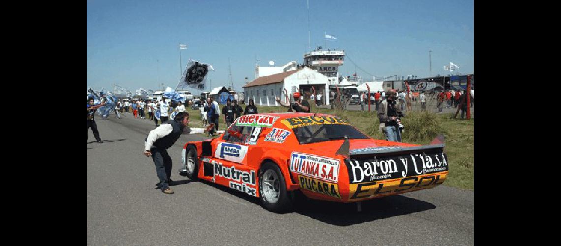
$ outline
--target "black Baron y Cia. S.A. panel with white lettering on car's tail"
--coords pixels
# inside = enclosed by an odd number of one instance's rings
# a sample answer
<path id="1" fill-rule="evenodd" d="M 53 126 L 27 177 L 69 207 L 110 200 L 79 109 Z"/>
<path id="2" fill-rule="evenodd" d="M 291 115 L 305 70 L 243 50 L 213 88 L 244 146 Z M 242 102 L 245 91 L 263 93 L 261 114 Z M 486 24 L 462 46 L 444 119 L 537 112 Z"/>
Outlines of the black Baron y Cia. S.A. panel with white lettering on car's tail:
<path id="1" fill-rule="evenodd" d="M 351 183 L 403 178 L 448 170 L 448 160 L 444 152 L 350 159 L 346 161 L 346 165 Z"/>

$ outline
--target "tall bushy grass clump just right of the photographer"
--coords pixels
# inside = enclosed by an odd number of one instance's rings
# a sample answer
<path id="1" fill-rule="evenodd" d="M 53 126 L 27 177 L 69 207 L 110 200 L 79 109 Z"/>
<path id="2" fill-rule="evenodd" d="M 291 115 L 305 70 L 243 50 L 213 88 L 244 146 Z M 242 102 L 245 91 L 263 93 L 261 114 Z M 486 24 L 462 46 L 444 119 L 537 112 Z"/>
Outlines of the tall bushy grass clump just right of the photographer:
<path id="1" fill-rule="evenodd" d="M 410 111 L 401 119 L 404 126 L 402 142 L 424 142 L 433 140 L 439 133 L 444 133 L 441 120 L 436 113 L 427 111 Z"/>

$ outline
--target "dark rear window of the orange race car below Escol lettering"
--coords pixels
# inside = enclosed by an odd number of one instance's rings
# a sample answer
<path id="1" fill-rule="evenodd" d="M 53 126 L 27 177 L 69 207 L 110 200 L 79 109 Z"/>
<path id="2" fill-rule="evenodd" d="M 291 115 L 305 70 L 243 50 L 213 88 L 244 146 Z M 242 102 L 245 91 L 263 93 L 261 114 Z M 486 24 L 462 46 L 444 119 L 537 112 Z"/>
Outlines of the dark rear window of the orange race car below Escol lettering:
<path id="1" fill-rule="evenodd" d="M 300 144 L 349 139 L 369 139 L 352 126 L 339 124 L 321 124 L 292 129 Z"/>

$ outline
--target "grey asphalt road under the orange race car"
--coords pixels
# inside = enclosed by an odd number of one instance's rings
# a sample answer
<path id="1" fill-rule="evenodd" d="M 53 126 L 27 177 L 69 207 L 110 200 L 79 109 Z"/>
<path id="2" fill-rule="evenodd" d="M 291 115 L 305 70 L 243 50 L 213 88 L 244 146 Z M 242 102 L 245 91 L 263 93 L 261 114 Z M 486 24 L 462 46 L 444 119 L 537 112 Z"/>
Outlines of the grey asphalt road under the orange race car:
<path id="1" fill-rule="evenodd" d="M 199 134 L 168 149 L 177 184 L 175 194 L 164 194 L 142 154 L 153 121 L 125 115 L 96 115 L 104 143 L 88 132 L 86 244 L 473 244 L 472 191 L 440 185 L 363 202 L 362 212 L 355 203 L 307 200 L 273 213 L 246 194 L 178 175 L 182 145 L 205 138 Z"/>

